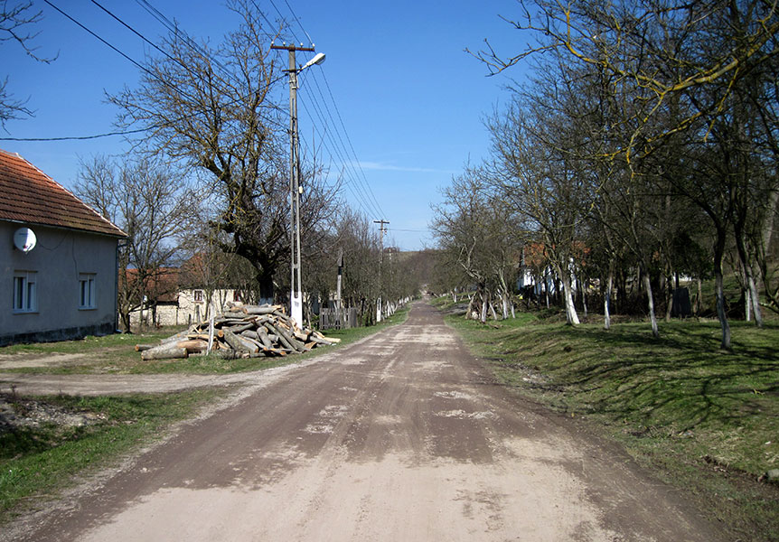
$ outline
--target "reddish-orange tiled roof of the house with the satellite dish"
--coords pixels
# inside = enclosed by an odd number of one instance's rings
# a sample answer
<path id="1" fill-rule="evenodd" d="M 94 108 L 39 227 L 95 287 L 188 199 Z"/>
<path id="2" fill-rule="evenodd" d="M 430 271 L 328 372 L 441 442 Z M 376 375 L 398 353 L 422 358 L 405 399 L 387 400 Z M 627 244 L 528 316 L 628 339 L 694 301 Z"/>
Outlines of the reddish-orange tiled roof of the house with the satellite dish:
<path id="1" fill-rule="evenodd" d="M 80 229 L 127 237 L 59 182 L 22 158 L 0 149 L 0 220 Z"/>

